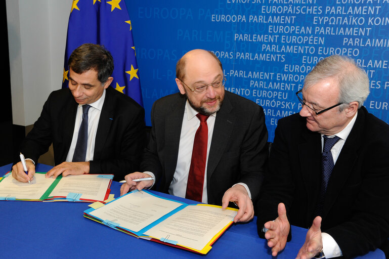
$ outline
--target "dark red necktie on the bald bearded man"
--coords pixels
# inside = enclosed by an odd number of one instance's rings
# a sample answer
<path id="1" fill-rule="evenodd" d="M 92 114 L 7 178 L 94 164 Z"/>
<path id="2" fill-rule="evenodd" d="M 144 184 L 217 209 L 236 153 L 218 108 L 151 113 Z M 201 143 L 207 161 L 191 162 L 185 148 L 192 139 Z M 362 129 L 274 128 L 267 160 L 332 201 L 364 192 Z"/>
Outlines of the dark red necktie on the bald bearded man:
<path id="1" fill-rule="evenodd" d="M 200 126 L 197 128 L 192 151 L 192 160 L 189 169 L 188 183 L 185 198 L 201 202 L 203 196 L 205 163 L 207 158 L 209 116 L 197 113 Z"/>

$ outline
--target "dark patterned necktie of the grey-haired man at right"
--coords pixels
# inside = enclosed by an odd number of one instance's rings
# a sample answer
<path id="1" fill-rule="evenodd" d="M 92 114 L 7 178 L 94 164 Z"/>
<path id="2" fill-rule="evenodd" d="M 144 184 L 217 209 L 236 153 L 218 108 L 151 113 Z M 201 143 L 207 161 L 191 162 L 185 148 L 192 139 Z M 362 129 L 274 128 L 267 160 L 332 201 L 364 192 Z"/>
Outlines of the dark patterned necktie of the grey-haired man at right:
<path id="1" fill-rule="evenodd" d="M 331 153 L 331 148 L 335 145 L 336 142 L 340 140 L 339 137 L 335 136 L 333 138 L 328 138 L 323 136 L 323 153 L 321 158 L 322 163 L 322 176 L 321 176 L 321 186 L 320 186 L 320 196 L 319 203 L 316 206 L 315 215 L 321 215 L 323 212 L 324 197 L 327 192 L 328 181 L 331 177 L 332 169 L 334 168 L 334 160 Z"/>

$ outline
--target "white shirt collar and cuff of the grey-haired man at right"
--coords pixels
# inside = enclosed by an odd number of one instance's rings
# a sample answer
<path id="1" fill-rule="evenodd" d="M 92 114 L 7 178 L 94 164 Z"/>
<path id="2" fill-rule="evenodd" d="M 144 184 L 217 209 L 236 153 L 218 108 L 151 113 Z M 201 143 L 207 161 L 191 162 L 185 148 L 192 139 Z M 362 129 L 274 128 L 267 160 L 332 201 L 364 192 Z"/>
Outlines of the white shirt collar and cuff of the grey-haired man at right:
<path id="1" fill-rule="evenodd" d="M 349 124 L 343 128 L 343 130 L 335 135 L 327 136 L 328 138 L 333 138 L 335 136 L 338 136 L 340 139 L 333 145 L 331 148 L 331 154 L 332 158 L 334 160 L 334 164 L 336 163 L 336 160 L 339 157 L 340 151 L 343 148 L 344 142 L 346 141 L 347 137 L 349 137 L 349 134 L 354 126 L 355 120 L 357 119 L 358 112 L 354 115 L 354 117 L 351 119 Z M 324 146 L 324 140 L 323 140 L 323 134 L 321 135 L 321 146 L 322 146 L 322 152 L 323 152 L 323 146 Z M 336 243 L 335 239 L 331 237 L 329 234 L 322 232 L 322 244 L 323 244 L 323 253 L 326 258 L 332 258 L 342 255 L 342 251 L 340 250 L 340 247 Z"/>

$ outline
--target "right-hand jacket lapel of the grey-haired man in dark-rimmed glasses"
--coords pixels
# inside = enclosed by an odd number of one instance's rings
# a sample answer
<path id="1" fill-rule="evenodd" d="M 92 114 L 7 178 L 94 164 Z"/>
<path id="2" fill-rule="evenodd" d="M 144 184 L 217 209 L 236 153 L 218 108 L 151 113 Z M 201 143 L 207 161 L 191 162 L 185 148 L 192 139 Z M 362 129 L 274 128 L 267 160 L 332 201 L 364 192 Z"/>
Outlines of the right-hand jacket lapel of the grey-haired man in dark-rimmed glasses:
<path id="1" fill-rule="evenodd" d="M 358 155 L 357 150 L 360 147 L 360 139 L 362 137 L 363 125 L 365 121 L 365 110 L 359 109 L 357 120 L 351 130 L 347 140 L 345 141 L 342 150 L 336 160 L 334 168 L 331 172 L 331 177 L 328 181 L 326 197 L 323 208 L 323 219 L 331 209 L 337 196 L 342 190 L 345 182 L 350 177 Z"/>

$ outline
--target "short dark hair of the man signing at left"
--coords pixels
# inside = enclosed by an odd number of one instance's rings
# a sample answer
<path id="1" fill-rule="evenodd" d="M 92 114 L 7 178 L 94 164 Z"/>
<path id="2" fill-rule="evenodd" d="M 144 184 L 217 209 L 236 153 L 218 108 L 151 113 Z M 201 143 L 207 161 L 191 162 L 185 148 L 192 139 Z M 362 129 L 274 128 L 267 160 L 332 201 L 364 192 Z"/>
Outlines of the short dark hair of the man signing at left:
<path id="1" fill-rule="evenodd" d="M 75 49 L 68 60 L 69 68 L 75 73 L 81 74 L 94 69 L 97 78 L 103 84 L 113 72 L 113 58 L 111 53 L 102 45 L 82 44 Z"/>

